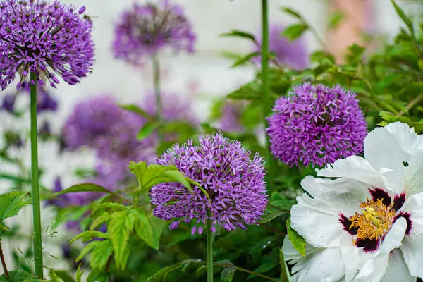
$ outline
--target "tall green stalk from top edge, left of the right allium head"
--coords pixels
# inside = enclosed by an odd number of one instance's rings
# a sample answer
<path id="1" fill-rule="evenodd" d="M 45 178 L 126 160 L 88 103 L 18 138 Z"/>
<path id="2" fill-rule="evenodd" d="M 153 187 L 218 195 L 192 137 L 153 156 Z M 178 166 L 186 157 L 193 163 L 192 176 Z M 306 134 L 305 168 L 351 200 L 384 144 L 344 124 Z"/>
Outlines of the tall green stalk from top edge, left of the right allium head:
<path id="1" fill-rule="evenodd" d="M 267 0 L 262 0 L 262 107 L 264 125 L 267 128 L 266 116 L 271 112 L 270 83 L 269 83 L 269 16 Z M 266 132 L 265 132 L 266 134 Z M 269 149 L 269 137 L 266 134 L 266 166 L 271 176 L 273 156 Z"/>

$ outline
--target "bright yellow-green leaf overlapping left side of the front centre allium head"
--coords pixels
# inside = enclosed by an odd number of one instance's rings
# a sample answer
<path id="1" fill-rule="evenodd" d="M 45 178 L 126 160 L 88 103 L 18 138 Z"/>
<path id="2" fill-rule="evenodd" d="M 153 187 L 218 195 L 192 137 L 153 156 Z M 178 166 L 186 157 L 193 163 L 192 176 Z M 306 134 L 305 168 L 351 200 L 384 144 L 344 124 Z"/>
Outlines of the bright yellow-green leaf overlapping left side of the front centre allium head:
<path id="1" fill-rule="evenodd" d="M 165 172 L 178 171 L 176 166 L 159 166 L 158 164 L 147 166 L 145 161 L 140 161 L 139 163 L 131 161 L 129 168 L 137 177 L 141 191 L 148 190 L 159 183 L 173 182 L 173 178 L 167 176 Z"/>

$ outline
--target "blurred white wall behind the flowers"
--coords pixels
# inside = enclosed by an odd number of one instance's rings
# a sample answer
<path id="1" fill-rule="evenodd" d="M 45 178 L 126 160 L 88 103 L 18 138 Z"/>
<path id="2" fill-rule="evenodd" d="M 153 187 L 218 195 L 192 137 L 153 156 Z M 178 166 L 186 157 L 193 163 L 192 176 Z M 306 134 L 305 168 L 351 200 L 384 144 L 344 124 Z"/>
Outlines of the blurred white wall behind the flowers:
<path id="1" fill-rule="evenodd" d="M 252 78 L 253 71 L 248 68 L 228 68 L 229 61 L 220 56 L 223 50 L 231 50 L 247 53 L 250 43 L 242 39 L 219 38 L 222 32 L 231 29 L 258 32 L 260 30 L 260 3 L 259 0 L 174 0 L 186 8 L 188 17 L 191 18 L 197 33 L 197 53 L 192 56 L 163 56 L 161 66 L 163 68 L 164 90 L 172 90 L 180 93 L 186 99 L 191 99 L 195 104 L 195 110 L 200 116 L 207 115 L 207 104 L 216 95 L 223 95 L 238 87 L 243 82 Z M 347 0 L 353 1 L 353 0 Z M 85 99 L 97 94 L 112 94 L 121 102 L 137 102 L 146 90 L 152 86 L 152 75 L 149 66 L 145 68 L 133 68 L 124 62 L 116 61 L 111 54 L 111 41 L 113 38 L 114 22 L 123 9 L 130 7 L 132 0 L 64 0 L 63 2 L 75 6 L 87 6 L 87 13 L 94 20 L 94 41 L 96 43 L 97 63 L 89 78 L 75 86 L 59 85 L 59 90 L 54 94 L 59 99 L 59 111 L 54 114 L 52 124 L 54 130 L 59 130 L 63 120 L 73 108 L 73 104 L 80 99 Z M 142 1 L 140 1 L 142 2 Z M 317 32 L 324 37 L 327 16 L 327 1 L 324 0 L 270 0 L 269 18 L 271 23 L 292 23 L 294 18 L 286 16 L 279 11 L 281 6 L 290 6 L 313 25 Z M 376 30 L 393 35 L 400 26 L 400 20 L 396 16 L 389 0 L 373 0 L 374 21 Z M 307 35 L 309 51 L 317 49 L 319 44 L 311 35 Z M 13 86 L 10 87 L 13 91 Z M 4 94 L 4 93 L 1 93 Z M 201 95 L 199 95 L 201 94 Z M 25 124 L 16 124 L 4 113 L 0 113 L 0 130 L 5 128 L 29 128 L 29 118 Z M 56 157 L 57 148 L 54 145 L 41 145 L 39 149 L 39 162 L 47 168 L 47 173 L 42 179 L 45 185 L 52 185 L 56 175 L 64 176 L 64 185 L 74 184 L 74 179 L 69 176 L 76 166 L 92 166 L 92 157 L 89 152 L 82 157 L 65 156 Z M 25 164 L 30 164 L 29 147 L 16 152 L 22 157 Z M 0 171 L 9 170 L 10 166 L 0 162 Z M 8 190 L 10 183 L 0 182 L 0 192 Z M 28 188 L 29 189 L 29 188 Z M 43 225 L 51 222 L 52 213 L 49 209 L 42 211 Z M 23 226 L 22 232 L 30 234 L 32 229 L 32 210 L 25 208 L 15 219 Z M 60 255 L 59 245 L 63 240 L 59 234 L 56 243 L 47 244 L 47 250 L 54 255 Z M 12 263 L 8 251 L 12 248 L 26 245 L 23 241 L 4 241 L 8 265 Z M 63 262 L 57 262 L 49 256 L 45 256 L 46 265 L 64 267 Z M 1 273 L 2 269 L 0 270 Z"/>

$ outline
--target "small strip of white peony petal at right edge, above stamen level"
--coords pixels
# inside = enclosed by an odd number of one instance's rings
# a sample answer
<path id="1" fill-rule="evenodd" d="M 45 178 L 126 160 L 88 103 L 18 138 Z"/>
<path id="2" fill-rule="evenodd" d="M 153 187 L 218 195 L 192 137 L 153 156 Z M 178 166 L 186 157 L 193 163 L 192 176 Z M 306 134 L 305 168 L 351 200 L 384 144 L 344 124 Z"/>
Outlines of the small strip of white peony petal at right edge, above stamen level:
<path id="1" fill-rule="evenodd" d="M 423 142 L 421 148 L 416 147 L 405 168 L 406 196 L 423 192 Z"/>

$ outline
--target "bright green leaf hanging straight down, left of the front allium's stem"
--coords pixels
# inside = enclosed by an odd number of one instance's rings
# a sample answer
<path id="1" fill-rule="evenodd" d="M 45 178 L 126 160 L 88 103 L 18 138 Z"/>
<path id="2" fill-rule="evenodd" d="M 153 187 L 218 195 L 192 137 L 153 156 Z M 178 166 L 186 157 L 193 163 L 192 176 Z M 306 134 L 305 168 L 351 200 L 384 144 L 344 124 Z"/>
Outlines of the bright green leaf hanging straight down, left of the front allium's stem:
<path id="1" fill-rule="evenodd" d="M 116 268 L 124 270 L 128 262 L 129 235 L 134 228 L 135 217 L 128 212 L 115 212 L 107 226 L 114 247 Z"/>

